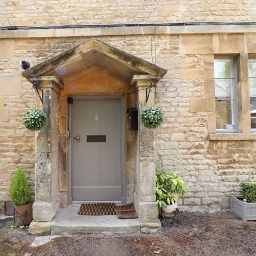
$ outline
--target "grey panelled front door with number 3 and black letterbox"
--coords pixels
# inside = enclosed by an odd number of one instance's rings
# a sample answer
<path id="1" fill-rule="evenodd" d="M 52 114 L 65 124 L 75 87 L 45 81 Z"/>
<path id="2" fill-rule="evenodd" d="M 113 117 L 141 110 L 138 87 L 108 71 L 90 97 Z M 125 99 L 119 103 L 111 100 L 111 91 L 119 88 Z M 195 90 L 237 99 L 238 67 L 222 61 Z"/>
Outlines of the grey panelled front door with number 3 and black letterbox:
<path id="1" fill-rule="evenodd" d="M 73 99 L 73 201 L 122 201 L 122 100 Z"/>

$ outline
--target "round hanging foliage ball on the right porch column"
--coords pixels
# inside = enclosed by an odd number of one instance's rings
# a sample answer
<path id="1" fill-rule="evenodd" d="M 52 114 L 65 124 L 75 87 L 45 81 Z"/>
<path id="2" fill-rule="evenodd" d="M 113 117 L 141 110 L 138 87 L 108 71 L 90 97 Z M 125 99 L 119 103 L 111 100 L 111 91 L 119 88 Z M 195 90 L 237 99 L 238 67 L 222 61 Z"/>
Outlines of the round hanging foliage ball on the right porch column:
<path id="1" fill-rule="evenodd" d="M 146 107 L 140 113 L 140 121 L 146 128 L 155 129 L 164 121 L 164 114 L 158 106 Z"/>

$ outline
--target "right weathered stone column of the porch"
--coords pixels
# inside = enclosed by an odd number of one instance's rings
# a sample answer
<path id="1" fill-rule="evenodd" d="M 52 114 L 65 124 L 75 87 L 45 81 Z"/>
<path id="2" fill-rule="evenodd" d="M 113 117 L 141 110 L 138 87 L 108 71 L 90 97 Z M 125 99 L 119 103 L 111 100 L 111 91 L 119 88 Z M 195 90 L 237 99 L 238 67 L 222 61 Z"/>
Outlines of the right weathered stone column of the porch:
<path id="1" fill-rule="evenodd" d="M 139 113 L 145 106 L 154 106 L 154 92 L 157 76 L 136 75 L 132 83 L 137 84 L 137 106 Z M 146 103 L 146 89 L 150 83 L 153 87 Z M 154 156 L 154 129 L 138 125 L 137 149 L 135 149 L 135 191 L 134 205 L 138 213 L 140 228 L 143 233 L 156 232 L 161 228 L 156 205 L 156 166 Z"/>

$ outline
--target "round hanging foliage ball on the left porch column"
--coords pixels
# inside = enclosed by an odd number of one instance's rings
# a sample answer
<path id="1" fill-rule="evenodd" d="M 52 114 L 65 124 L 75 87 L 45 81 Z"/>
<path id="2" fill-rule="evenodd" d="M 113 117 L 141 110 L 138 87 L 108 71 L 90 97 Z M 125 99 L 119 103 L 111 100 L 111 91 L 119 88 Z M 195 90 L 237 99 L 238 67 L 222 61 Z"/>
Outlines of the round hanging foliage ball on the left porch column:
<path id="1" fill-rule="evenodd" d="M 41 130 L 47 123 L 47 116 L 41 109 L 30 109 L 23 113 L 23 124 L 31 131 Z"/>

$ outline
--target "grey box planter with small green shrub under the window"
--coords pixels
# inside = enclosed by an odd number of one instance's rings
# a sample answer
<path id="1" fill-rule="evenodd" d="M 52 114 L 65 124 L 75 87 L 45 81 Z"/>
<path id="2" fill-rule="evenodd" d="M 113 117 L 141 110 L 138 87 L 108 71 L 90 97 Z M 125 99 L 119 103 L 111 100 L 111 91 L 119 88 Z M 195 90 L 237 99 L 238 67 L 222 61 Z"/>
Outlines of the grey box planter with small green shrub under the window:
<path id="1" fill-rule="evenodd" d="M 241 183 L 240 193 L 230 197 L 230 211 L 242 220 L 256 220 L 256 183 Z"/>

